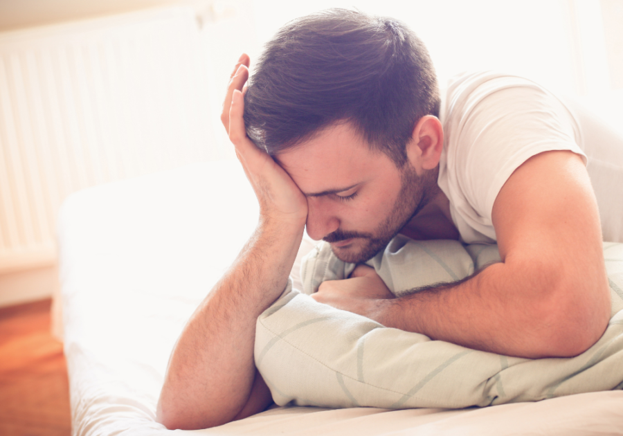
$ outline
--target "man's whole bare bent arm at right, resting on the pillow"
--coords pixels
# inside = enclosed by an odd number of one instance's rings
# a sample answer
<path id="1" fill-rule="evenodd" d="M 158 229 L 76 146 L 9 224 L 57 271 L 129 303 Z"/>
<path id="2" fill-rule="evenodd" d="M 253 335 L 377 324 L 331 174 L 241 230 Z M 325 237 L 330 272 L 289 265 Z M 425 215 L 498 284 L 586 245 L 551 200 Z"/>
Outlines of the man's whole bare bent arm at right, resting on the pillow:
<path id="1" fill-rule="evenodd" d="M 498 194 L 493 221 L 503 262 L 468 280 L 395 299 L 343 289 L 349 280 L 325 282 L 315 298 L 474 349 L 530 358 L 584 352 L 606 329 L 610 298 L 597 204 L 579 156 L 526 161 Z"/>

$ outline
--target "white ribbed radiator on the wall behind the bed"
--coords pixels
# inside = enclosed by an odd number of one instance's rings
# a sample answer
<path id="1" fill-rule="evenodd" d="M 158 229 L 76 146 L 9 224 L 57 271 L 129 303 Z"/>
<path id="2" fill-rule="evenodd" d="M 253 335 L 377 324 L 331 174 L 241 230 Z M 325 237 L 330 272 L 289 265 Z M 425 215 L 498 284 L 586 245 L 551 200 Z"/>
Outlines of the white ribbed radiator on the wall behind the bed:
<path id="1" fill-rule="evenodd" d="M 0 274 L 53 264 L 66 195 L 228 156 L 195 12 L 0 34 Z"/>

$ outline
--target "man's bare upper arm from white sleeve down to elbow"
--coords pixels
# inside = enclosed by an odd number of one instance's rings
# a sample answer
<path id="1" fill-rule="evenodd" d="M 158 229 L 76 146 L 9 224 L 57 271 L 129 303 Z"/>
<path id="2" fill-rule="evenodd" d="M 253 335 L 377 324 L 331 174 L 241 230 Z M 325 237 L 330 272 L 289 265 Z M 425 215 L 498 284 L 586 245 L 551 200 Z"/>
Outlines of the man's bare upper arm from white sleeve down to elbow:
<path id="1" fill-rule="evenodd" d="M 595 194 L 581 158 L 552 151 L 528 159 L 500 190 L 492 211 L 505 267 L 532 293 L 551 327 L 572 326 L 570 355 L 602 335 L 610 295 Z"/>

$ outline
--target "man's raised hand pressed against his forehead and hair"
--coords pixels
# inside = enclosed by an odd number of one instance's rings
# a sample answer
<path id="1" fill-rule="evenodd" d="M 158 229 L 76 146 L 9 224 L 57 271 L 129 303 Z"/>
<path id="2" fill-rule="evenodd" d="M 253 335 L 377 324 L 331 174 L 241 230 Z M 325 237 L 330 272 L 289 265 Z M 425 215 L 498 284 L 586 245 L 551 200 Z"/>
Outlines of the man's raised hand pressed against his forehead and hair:
<path id="1" fill-rule="evenodd" d="M 298 230 L 307 220 L 307 199 L 291 177 L 246 136 L 244 96 L 249 79 L 249 56 L 242 55 L 231 75 L 221 121 L 228 131 L 236 156 L 260 203 L 260 217 Z M 264 221 L 265 223 L 265 221 Z"/>

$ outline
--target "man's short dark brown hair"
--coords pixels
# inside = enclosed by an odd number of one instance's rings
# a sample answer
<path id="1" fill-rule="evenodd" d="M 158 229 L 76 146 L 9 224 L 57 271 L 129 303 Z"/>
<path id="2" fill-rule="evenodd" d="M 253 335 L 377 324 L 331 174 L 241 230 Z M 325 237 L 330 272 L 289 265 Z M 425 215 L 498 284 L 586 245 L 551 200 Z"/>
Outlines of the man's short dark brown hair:
<path id="1" fill-rule="evenodd" d="M 394 19 L 329 9 L 289 22 L 267 43 L 244 105 L 247 134 L 269 154 L 347 121 L 402 167 L 413 127 L 439 116 L 440 97 L 413 31 Z"/>

